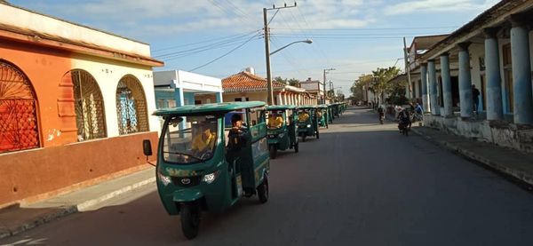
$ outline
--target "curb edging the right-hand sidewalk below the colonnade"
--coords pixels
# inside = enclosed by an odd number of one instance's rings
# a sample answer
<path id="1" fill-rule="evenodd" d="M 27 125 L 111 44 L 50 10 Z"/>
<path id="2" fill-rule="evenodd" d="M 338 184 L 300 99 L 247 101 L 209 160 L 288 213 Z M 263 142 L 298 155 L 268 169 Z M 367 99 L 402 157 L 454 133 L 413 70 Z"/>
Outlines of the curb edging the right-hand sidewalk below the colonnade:
<path id="1" fill-rule="evenodd" d="M 505 165 L 490 161 L 489 159 L 487 159 L 487 158 L 485 158 L 485 157 L 483 157 L 481 155 L 477 155 L 477 154 L 473 153 L 472 151 L 469 151 L 469 150 L 467 150 L 465 148 L 460 148 L 460 147 L 457 147 L 456 145 L 451 144 L 449 142 L 439 141 L 437 139 L 429 137 L 429 136 L 425 135 L 424 133 L 418 131 L 415 128 L 411 128 L 411 131 L 417 133 L 422 138 L 424 138 L 424 139 L 426 139 L 426 140 L 428 140 L 430 142 L 433 142 L 436 145 L 440 145 L 442 147 L 446 147 L 450 151 L 452 151 L 454 153 L 457 153 L 458 155 L 462 155 L 462 156 L 464 156 L 467 159 L 473 160 L 474 162 L 481 163 L 482 165 L 484 165 L 485 167 L 488 167 L 489 169 L 491 169 L 493 171 L 497 171 L 498 173 L 503 174 L 506 177 L 514 179 L 515 181 L 519 181 L 523 185 L 528 186 L 528 189 L 531 189 L 531 186 L 533 186 L 533 175 L 531 175 L 531 174 L 529 174 L 529 173 L 527 173 L 525 171 L 517 171 L 517 170 L 510 169 L 510 168 L 506 167 Z"/>

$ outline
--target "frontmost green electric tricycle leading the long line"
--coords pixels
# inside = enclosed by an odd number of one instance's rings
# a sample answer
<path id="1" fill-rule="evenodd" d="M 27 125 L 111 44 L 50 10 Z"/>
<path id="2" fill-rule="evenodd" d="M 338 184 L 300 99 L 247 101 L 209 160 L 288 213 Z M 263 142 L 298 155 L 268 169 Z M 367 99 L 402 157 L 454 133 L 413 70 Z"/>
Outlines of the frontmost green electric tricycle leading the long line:
<path id="1" fill-rule="evenodd" d="M 202 211 L 221 212 L 243 196 L 268 200 L 265 103 L 259 101 L 164 108 L 156 164 L 165 210 L 195 238 Z M 152 155 L 144 140 L 145 155 Z"/>

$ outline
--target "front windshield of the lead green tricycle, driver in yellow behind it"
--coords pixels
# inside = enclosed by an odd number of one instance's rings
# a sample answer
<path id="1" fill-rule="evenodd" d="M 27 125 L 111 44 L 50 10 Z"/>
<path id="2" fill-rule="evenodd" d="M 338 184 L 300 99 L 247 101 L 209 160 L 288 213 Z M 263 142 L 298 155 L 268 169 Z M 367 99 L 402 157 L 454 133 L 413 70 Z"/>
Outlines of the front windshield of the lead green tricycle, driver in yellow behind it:
<path id="1" fill-rule="evenodd" d="M 204 162 L 217 147 L 219 123 L 215 115 L 172 116 L 163 128 L 163 160 L 168 163 Z"/>

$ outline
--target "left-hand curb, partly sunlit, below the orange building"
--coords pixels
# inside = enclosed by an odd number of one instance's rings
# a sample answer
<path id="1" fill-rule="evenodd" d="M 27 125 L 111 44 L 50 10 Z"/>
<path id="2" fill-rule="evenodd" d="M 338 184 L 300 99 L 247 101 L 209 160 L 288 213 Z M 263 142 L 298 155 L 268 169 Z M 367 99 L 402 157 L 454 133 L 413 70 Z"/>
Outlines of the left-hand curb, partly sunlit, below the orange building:
<path id="1" fill-rule="evenodd" d="M 150 184 L 155 183 L 155 177 L 150 179 L 145 179 L 136 183 L 133 183 L 129 186 L 123 186 L 122 188 L 116 189 L 114 191 L 108 192 L 107 194 L 101 194 L 98 197 L 91 198 L 87 201 L 80 202 L 78 204 L 73 205 L 67 205 L 67 206 L 61 206 L 57 208 L 57 210 L 54 210 L 52 212 L 46 213 L 40 217 L 37 218 L 31 218 L 25 221 L 23 224 L 19 226 L 13 226 L 11 228 L 6 228 L 4 230 L 0 230 L 0 239 L 4 239 L 7 237 L 11 237 L 16 234 L 20 234 L 23 232 L 26 232 L 32 228 L 35 228 L 36 226 L 44 225 L 48 222 L 52 222 L 54 220 L 66 217 L 70 214 L 78 213 L 80 211 L 87 210 L 91 206 L 97 205 L 101 202 L 105 202 L 109 199 L 115 198 L 121 194 L 126 194 L 131 191 L 134 191 L 136 189 L 139 189 L 140 187 L 147 186 Z"/>

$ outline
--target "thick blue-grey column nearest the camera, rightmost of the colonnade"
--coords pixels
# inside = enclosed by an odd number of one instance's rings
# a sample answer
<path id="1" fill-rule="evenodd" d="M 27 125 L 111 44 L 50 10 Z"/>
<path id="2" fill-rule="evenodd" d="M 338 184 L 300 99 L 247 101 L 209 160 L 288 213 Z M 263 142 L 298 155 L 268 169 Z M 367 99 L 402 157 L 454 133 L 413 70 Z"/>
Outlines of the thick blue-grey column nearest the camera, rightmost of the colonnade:
<path id="1" fill-rule="evenodd" d="M 511 17 L 511 63 L 513 64 L 514 123 L 533 123 L 533 95 L 531 91 L 531 60 L 529 60 L 529 28 Z"/>

